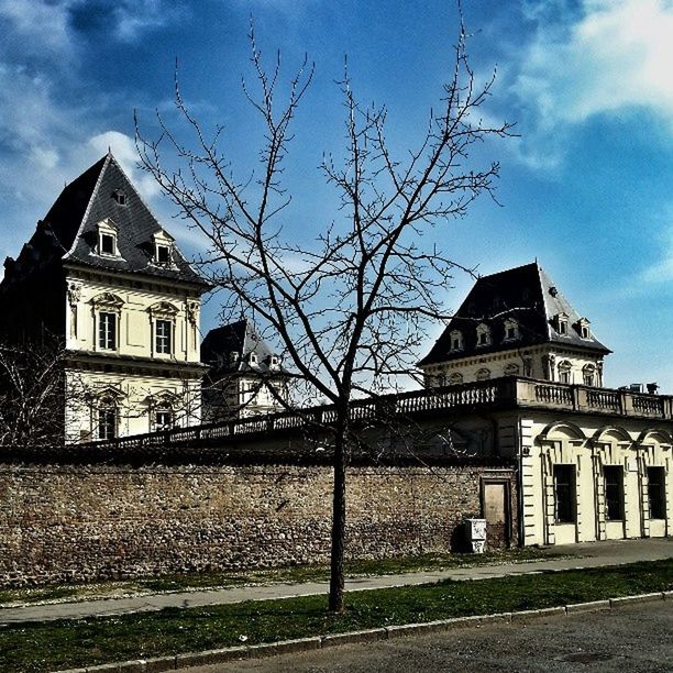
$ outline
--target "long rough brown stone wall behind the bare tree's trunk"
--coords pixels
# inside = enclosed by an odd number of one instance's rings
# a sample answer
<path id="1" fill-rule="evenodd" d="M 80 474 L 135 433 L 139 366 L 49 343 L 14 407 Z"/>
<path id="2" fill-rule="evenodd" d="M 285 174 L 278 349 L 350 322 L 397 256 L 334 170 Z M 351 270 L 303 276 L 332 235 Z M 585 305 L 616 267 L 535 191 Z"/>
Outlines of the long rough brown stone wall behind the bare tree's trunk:
<path id="1" fill-rule="evenodd" d="M 347 556 L 449 550 L 494 474 L 351 467 Z M 0 584 L 324 562 L 330 508 L 326 465 L 0 464 Z"/>

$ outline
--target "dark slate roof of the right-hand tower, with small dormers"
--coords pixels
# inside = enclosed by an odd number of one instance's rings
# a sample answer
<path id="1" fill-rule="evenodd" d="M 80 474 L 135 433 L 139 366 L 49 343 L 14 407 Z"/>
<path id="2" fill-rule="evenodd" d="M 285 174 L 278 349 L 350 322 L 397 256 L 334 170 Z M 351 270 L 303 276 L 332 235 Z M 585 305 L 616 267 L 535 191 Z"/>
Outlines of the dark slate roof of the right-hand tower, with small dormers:
<path id="1" fill-rule="evenodd" d="M 559 313 L 567 315 L 566 335 L 555 329 L 554 318 Z M 520 338 L 504 343 L 507 318 L 517 321 Z M 582 339 L 575 327 L 581 318 L 537 262 L 483 276 L 419 364 L 434 364 L 543 343 L 610 353 L 594 336 L 593 331 L 589 339 Z M 482 322 L 490 328 L 492 344 L 477 347 L 476 328 Z M 451 352 L 451 332 L 454 330 L 463 334 L 463 349 Z"/>

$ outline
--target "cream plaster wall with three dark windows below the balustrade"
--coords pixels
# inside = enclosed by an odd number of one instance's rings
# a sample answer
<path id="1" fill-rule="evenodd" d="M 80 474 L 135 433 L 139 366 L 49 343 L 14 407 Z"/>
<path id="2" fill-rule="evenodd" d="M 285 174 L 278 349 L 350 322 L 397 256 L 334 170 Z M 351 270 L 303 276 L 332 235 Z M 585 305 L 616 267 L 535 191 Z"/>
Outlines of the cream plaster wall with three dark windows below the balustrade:
<path id="1" fill-rule="evenodd" d="M 673 533 L 673 449 L 668 440 L 648 429 L 671 432 L 666 421 L 642 421 L 609 417 L 539 415 L 521 419 L 521 485 L 525 544 L 569 543 L 597 539 L 663 537 Z M 552 430 L 542 433 L 552 423 Z M 665 427 L 664 427 L 665 424 Z M 592 441 L 589 441 L 589 439 Z M 638 440 L 641 440 L 640 442 Z M 577 520 L 574 525 L 553 522 L 553 464 L 573 464 L 576 475 Z M 624 470 L 625 519 L 605 520 L 603 466 Z M 647 467 L 664 467 L 666 520 L 649 517 Z"/>

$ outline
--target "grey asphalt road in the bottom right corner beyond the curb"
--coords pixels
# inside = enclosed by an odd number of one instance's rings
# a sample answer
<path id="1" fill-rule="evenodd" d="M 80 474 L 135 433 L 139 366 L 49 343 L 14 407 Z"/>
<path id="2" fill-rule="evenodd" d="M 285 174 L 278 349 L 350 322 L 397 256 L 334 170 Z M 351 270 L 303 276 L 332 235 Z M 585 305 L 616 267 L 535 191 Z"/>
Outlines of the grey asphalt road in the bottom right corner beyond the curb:
<path id="1" fill-rule="evenodd" d="M 673 671 L 673 600 L 528 624 L 342 646 L 184 669 L 184 673 Z"/>

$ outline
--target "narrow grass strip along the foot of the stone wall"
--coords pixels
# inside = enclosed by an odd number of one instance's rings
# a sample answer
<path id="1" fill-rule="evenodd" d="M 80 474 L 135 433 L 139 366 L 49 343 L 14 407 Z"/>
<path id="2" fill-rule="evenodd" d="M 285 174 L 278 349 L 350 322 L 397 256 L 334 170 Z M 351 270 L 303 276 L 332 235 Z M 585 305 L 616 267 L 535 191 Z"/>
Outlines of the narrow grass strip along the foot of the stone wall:
<path id="1" fill-rule="evenodd" d="M 394 575 L 416 571 L 440 571 L 452 567 L 498 563 L 521 563 L 540 558 L 559 558 L 558 552 L 541 552 L 536 549 L 510 549 L 486 554 L 421 554 L 401 559 L 379 561 L 352 561 L 345 565 L 349 577 Z M 327 565 L 295 565 L 289 567 L 251 570 L 246 572 L 190 573 L 181 575 L 153 576 L 123 582 L 95 584 L 64 584 L 45 587 L 0 589 L 0 604 L 45 603 L 64 598 L 73 600 L 107 598 L 128 594 L 147 594 L 207 589 L 214 587 L 252 586 L 273 583 L 320 582 L 329 578 Z"/>

